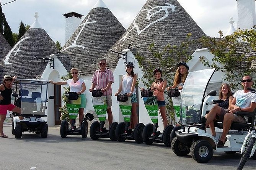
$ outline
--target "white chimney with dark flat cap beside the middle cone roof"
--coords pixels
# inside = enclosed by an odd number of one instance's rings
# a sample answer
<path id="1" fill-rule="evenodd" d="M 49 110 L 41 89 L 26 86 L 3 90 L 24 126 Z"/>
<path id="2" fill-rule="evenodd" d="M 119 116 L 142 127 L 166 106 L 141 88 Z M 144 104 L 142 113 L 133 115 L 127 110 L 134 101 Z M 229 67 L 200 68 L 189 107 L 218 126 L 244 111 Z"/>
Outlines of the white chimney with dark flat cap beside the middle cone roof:
<path id="1" fill-rule="evenodd" d="M 75 32 L 77 27 L 81 24 L 83 15 L 75 12 L 70 12 L 63 14 L 63 16 L 66 17 L 66 43 L 67 40 L 71 37 L 71 35 Z"/>

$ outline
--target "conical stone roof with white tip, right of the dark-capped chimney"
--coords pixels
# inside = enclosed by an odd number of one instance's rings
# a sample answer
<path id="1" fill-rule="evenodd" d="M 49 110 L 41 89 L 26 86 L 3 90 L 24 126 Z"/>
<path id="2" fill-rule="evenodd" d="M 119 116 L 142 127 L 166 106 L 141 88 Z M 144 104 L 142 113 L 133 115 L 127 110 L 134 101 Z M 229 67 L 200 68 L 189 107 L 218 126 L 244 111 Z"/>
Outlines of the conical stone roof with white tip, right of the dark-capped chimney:
<path id="1" fill-rule="evenodd" d="M 103 1 L 98 0 L 61 52 L 69 55 L 81 75 L 93 74 L 99 68 L 99 58 L 125 31 Z"/>

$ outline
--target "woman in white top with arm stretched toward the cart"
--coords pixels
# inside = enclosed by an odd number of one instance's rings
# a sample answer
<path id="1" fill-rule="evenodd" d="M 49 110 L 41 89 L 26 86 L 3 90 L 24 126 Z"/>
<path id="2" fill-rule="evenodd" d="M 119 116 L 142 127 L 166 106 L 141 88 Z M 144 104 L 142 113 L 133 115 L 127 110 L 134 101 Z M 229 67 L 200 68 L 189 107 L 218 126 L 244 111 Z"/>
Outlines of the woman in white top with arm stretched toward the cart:
<path id="1" fill-rule="evenodd" d="M 56 85 L 65 85 L 67 84 L 70 87 L 70 92 L 77 92 L 77 94 L 79 96 L 81 96 L 81 106 L 80 109 L 78 111 L 79 114 L 79 127 L 78 130 L 81 129 L 81 122 L 83 120 L 83 111 L 84 108 L 86 106 L 86 98 L 85 98 L 85 90 L 86 90 L 86 86 L 85 86 L 85 82 L 83 79 L 79 79 L 78 78 L 78 69 L 77 68 L 72 68 L 70 70 L 70 73 L 72 74 L 73 79 L 68 79 L 67 81 L 63 81 L 63 82 L 53 82 L 52 80 L 50 80 L 49 82 L 52 84 L 56 84 Z M 70 123 L 71 123 L 70 119 Z"/>

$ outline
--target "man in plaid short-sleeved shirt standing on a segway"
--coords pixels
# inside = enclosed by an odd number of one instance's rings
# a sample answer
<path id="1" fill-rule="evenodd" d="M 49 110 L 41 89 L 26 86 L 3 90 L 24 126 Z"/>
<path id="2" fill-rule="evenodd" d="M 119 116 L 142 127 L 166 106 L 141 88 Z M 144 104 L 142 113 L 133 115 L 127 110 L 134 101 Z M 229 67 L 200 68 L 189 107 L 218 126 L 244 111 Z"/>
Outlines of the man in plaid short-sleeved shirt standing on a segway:
<path id="1" fill-rule="evenodd" d="M 112 106 L 112 88 L 111 85 L 114 83 L 114 75 L 110 69 L 106 68 L 107 61 L 102 58 L 99 60 L 99 69 L 96 70 L 91 78 L 91 88 L 89 89 L 91 92 L 96 87 L 96 90 L 103 91 L 103 96 L 107 96 L 107 113 L 108 113 L 108 122 L 111 125 L 113 120 L 113 115 L 111 111 Z"/>

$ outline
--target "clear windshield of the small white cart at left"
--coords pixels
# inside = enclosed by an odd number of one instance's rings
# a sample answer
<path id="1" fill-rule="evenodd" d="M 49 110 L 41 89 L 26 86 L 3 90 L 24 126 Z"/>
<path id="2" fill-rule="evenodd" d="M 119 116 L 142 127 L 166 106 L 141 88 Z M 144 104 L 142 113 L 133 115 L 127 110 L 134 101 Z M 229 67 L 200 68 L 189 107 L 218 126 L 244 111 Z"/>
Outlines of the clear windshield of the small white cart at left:
<path id="1" fill-rule="evenodd" d="M 45 114 L 48 83 L 45 80 L 17 79 L 20 85 L 21 114 Z"/>

